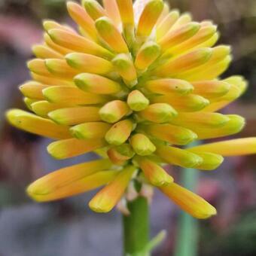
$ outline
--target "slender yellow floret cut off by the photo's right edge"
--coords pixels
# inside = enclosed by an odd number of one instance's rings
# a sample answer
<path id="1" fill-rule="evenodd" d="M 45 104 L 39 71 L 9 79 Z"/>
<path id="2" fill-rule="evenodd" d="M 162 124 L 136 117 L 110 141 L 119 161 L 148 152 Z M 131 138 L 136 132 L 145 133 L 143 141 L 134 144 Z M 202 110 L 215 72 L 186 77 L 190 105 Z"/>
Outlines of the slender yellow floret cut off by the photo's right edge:
<path id="1" fill-rule="evenodd" d="M 214 142 L 187 148 L 187 150 L 196 153 L 212 152 L 221 154 L 224 157 L 256 154 L 256 138 L 230 139 L 224 142 Z"/>

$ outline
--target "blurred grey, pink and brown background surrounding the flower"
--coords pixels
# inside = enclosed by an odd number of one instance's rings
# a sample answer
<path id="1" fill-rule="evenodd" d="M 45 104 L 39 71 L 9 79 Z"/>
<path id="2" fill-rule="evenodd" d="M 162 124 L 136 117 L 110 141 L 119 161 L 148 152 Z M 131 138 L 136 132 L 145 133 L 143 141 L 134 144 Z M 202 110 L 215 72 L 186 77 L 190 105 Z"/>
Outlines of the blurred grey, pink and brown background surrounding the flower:
<path id="1" fill-rule="evenodd" d="M 256 136 L 256 1 L 171 0 L 172 8 L 190 11 L 194 20 L 214 20 L 221 31 L 219 43 L 233 47 L 233 63 L 224 74 L 244 75 L 247 92 L 224 113 L 241 114 L 247 125 L 240 137 Z M 25 108 L 18 85 L 29 79 L 26 60 L 31 44 L 42 38 L 41 20 L 54 18 L 74 25 L 64 0 L 0 0 L 0 256 L 118 256 L 121 255 L 121 216 L 91 212 L 93 193 L 54 203 L 29 200 L 25 187 L 54 169 L 79 163 L 53 160 L 47 155 L 47 139 L 23 133 L 5 121 L 8 108 Z M 181 169 L 170 169 L 176 180 Z M 256 255 L 256 156 L 232 157 L 213 172 L 200 172 L 197 192 L 218 209 L 208 221 L 194 223 L 196 255 Z M 162 194 L 154 194 L 151 206 L 152 236 L 167 230 L 168 236 L 155 255 L 183 256 L 177 252 L 181 238 L 180 212 Z M 191 246 L 184 244 L 181 247 Z M 191 248 L 188 248 L 189 250 Z M 175 252 L 176 251 L 176 252 Z M 182 250 L 181 250 L 182 251 Z M 184 250 L 183 250 L 184 251 Z M 192 251 L 186 256 L 190 256 Z"/>

